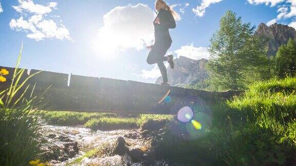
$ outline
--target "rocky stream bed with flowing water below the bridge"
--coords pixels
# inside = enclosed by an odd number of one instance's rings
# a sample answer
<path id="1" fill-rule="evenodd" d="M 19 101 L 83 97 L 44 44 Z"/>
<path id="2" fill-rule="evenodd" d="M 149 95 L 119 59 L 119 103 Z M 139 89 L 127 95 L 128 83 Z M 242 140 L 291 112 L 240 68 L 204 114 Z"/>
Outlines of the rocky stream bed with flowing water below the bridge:
<path id="1" fill-rule="evenodd" d="M 53 165 L 168 165 L 151 157 L 156 137 L 147 135 L 147 130 L 91 131 L 83 126 L 46 125 L 42 133 L 50 142 L 42 156 Z M 82 157 L 94 149 L 106 153 Z"/>

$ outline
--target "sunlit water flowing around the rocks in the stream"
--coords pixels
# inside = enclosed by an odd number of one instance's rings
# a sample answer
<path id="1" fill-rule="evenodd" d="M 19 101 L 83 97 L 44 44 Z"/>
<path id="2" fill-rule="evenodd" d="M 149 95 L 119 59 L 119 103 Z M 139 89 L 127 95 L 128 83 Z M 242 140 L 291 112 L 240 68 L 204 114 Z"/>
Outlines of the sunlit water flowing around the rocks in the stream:
<path id="1" fill-rule="evenodd" d="M 113 131 L 91 131 L 83 126 L 44 126 L 42 132 L 47 137 L 48 141 L 54 146 L 62 149 L 65 147 L 66 141 L 78 142 L 79 152 L 61 160 L 50 160 L 54 165 L 66 165 L 71 161 L 83 156 L 89 150 L 104 146 L 105 144 L 112 144 L 116 142 L 117 138 L 124 135 L 133 135 L 133 138 L 124 137 L 129 149 L 139 148 L 143 151 L 149 149 L 149 141 L 142 139 L 140 136 L 140 129 L 133 130 L 113 130 Z M 79 165 L 121 165 L 123 158 L 119 155 L 83 158 Z M 125 159 L 126 160 L 126 159 Z M 128 159 L 127 159 L 128 160 Z M 131 159 L 130 159 L 131 160 Z M 128 161 L 127 161 L 128 162 Z M 73 165 L 71 163 L 71 165 Z"/>

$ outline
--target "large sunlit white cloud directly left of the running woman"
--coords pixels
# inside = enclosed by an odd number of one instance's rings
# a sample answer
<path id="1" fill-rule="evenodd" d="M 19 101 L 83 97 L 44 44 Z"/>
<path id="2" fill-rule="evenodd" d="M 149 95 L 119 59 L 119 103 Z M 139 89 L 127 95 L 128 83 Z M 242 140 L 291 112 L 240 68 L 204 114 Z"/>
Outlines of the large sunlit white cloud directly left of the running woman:
<path id="1" fill-rule="evenodd" d="M 104 15 L 104 25 L 94 39 L 94 49 L 108 54 L 117 50 L 143 49 L 154 38 L 155 14 L 147 5 L 116 7 Z"/>

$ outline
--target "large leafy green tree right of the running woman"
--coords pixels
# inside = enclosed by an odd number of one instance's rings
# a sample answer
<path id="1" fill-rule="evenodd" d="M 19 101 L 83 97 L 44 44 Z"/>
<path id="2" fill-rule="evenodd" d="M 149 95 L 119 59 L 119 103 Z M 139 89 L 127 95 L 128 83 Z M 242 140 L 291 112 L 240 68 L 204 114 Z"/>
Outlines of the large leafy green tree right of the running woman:
<path id="1" fill-rule="evenodd" d="M 254 80 L 269 77 L 266 41 L 254 35 L 255 26 L 242 23 L 241 17 L 228 10 L 213 34 L 207 69 L 216 90 L 246 88 Z"/>

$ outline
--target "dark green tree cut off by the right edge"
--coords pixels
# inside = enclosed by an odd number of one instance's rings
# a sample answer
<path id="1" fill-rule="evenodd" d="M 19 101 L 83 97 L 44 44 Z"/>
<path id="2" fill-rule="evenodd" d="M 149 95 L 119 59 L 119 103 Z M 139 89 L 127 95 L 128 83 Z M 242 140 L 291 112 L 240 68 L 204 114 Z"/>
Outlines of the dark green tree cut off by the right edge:
<path id="1" fill-rule="evenodd" d="M 296 73 L 296 44 L 289 38 L 287 45 L 282 45 L 275 55 L 276 73 L 280 78 Z"/>

